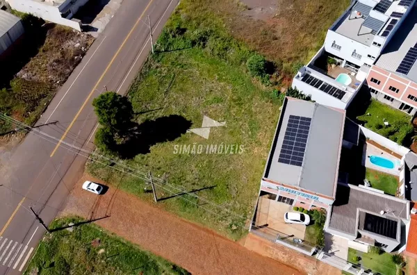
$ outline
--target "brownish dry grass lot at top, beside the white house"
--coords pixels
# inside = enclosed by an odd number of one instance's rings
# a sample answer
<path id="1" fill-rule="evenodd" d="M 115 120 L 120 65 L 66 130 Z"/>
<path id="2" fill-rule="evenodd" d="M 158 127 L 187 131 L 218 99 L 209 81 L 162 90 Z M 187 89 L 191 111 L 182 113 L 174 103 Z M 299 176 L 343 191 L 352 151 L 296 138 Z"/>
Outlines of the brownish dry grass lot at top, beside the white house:
<path id="1" fill-rule="evenodd" d="M 238 9 L 233 6 L 236 1 L 197 2 L 201 8 L 224 17 L 224 24 L 235 38 L 277 62 L 290 78 L 322 47 L 327 28 L 350 3 L 349 0 L 240 0 L 247 6 L 239 5 Z M 261 20 L 252 16 L 259 8 L 269 16 Z"/>

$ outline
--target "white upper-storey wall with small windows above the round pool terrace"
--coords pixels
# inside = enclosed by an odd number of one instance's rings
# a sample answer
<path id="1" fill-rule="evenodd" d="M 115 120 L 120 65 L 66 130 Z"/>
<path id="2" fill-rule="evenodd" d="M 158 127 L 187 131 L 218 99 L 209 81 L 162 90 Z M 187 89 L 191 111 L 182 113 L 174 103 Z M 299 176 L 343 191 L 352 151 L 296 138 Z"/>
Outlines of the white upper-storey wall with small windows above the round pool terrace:
<path id="1" fill-rule="evenodd" d="M 332 48 L 332 44 L 334 41 L 336 42 L 336 44 L 341 46 L 340 51 Z M 373 63 L 375 62 L 375 60 L 368 58 L 368 53 L 370 53 L 370 47 L 366 46 L 366 44 L 354 41 L 351 38 L 347 38 L 344 35 L 336 33 L 332 30 L 327 31 L 325 49 L 328 53 L 332 53 L 335 56 L 343 58 L 349 61 L 350 63 L 353 63 L 358 66 L 362 66 L 363 63 L 373 65 Z M 356 50 L 356 52 L 362 56 L 361 60 L 352 56 L 354 50 Z M 377 58 L 377 56 L 375 57 Z"/>

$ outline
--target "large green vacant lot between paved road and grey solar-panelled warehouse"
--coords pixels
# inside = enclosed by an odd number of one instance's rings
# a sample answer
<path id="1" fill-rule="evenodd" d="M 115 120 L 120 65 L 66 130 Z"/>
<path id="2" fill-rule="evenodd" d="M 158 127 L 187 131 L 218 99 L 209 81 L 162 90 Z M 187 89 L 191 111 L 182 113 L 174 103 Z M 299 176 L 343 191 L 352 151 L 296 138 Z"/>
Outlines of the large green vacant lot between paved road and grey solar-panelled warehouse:
<path id="1" fill-rule="evenodd" d="M 218 204 L 156 182 L 158 197 L 163 199 L 159 206 L 234 239 L 247 232 L 282 99 L 278 86 L 250 76 L 246 62 L 255 52 L 230 35 L 231 18 L 237 18 L 241 8 L 233 1 L 181 1 L 156 43 L 156 53 L 129 90 L 138 124 L 179 115 L 192 122 L 192 128 L 199 128 L 206 115 L 226 126 L 211 128 L 208 140 L 186 133 L 174 141 L 156 143 L 149 153 L 123 160 Z M 234 17 L 226 18 L 230 12 Z M 248 19 L 245 24 L 251 22 Z M 166 125 L 167 131 L 170 128 Z M 175 153 L 175 146 L 183 145 L 202 145 L 204 151 Z M 243 152 L 206 153 L 210 145 L 222 146 L 224 151 L 226 146 L 241 145 Z M 149 185 L 143 175 L 138 178 L 91 162 L 87 171 L 152 200 L 152 194 L 144 191 Z M 173 194 L 181 196 L 165 199 Z"/>

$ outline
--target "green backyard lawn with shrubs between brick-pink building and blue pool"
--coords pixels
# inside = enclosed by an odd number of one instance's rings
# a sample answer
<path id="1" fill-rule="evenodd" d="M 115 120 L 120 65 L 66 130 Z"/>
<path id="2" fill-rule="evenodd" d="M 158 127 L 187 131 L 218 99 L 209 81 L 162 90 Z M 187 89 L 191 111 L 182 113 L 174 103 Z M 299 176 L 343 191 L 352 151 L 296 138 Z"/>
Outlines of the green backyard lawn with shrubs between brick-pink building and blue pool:
<path id="1" fill-rule="evenodd" d="M 370 115 L 366 115 L 368 113 Z M 379 101 L 371 100 L 365 115 L 357 118 L 361 122 L 365 122 L 366 128 L 389 138 L 393 142 L 406 147 L 411 144 L 411 135 L 413 134 L 411 117 L 400 110 L 395 110 Z M 384 125 L 384 119 L 389 122 L 389 126 Z"/>

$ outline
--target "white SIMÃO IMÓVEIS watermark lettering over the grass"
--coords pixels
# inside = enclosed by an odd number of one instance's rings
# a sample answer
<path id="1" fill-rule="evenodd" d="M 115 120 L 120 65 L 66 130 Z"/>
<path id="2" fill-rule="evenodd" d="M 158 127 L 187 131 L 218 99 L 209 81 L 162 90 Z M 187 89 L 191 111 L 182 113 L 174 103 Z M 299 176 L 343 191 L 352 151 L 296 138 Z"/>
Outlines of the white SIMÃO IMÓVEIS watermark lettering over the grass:
<path id="1" fill-rule="evenodd" d="M 241 154 L 245 151 L 243 144 L 176 144 L 174 145 L 175 154 L 201 155 L 201 154 L 218 154 L 234 155 Z"/>

